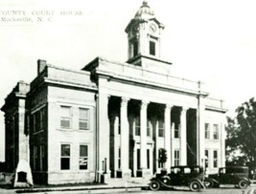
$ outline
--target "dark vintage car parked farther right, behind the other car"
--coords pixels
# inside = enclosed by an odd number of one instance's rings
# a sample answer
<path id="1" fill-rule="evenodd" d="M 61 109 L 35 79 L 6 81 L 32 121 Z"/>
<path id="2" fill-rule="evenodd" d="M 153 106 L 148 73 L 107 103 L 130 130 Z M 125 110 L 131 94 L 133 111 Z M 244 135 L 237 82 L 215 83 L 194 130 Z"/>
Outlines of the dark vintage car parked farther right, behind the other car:
<path id="1" fill-rule="evenodd" d="M 219 187 L 221 184 L 234 184 L 238 188 L 246 188 L 249 184 L 249 168 L 247 166 L 229 166 L 219 168 L 218 174 L 205 178 L 206 187 Z"/>

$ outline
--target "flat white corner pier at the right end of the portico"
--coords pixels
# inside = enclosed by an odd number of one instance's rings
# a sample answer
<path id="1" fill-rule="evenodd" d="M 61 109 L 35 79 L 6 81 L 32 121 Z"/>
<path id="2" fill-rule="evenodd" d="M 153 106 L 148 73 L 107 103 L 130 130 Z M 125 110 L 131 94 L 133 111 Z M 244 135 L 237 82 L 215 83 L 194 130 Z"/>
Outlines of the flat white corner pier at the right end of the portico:
<path id="1" fill-rule="evenodd" d="M 204 101 L 202 97 L 198 97 L 198 165 L 204 166 L 205 163 L 205 146 L 204 146 Z"/>

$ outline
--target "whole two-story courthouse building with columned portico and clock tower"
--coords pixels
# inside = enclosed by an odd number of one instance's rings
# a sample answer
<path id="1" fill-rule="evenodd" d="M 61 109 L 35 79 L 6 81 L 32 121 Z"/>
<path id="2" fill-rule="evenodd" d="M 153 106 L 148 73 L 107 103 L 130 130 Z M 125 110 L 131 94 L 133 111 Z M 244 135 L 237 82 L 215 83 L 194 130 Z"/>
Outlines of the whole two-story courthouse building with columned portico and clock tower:
<path id="1" fill-rule="evenodd" d="M 70 70 L 38 60 L 35 79 L 19 82 L 2 107 L 8 170 L 25 159 L 35 183 L 151 177 L 162 148 L 168 170 L 224 166 L 226 109 L 201 82 L 171 74 L 163 30 L 144 1 L 125 30 L 127 62 L 97 57 Z"/>

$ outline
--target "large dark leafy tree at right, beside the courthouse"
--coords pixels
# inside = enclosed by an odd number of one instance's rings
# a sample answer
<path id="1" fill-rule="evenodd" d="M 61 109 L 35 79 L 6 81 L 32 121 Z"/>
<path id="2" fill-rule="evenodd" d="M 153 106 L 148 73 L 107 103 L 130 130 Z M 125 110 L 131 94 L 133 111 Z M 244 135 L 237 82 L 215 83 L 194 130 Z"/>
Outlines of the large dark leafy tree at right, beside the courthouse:
<path id="1" fill-rule="evenodd" d="M 236 118 L 227 118 L 227 157 L 233 161 L 248 162 L 256 166 L 256 101 L 254 98 L 245 101 L 236 109 Z M 234 157 L 232 153 L 240 151 L 243 156 Z"/>

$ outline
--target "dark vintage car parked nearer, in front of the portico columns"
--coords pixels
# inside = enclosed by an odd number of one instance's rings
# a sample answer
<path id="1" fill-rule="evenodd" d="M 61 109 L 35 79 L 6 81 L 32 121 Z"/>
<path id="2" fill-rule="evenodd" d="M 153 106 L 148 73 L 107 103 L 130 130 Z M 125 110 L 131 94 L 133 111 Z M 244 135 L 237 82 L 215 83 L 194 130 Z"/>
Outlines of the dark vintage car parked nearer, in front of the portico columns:
<path id="1" fill-rule="evenodd" d="M 174 166 L 171 173 L 156 174 L 151 179 L 151 190 L 161 188 L 174 188 L 175 186 L 188 186 L 192 191 L 205 188 L 203 183 L 204 173 L 201 166 Z"/>

